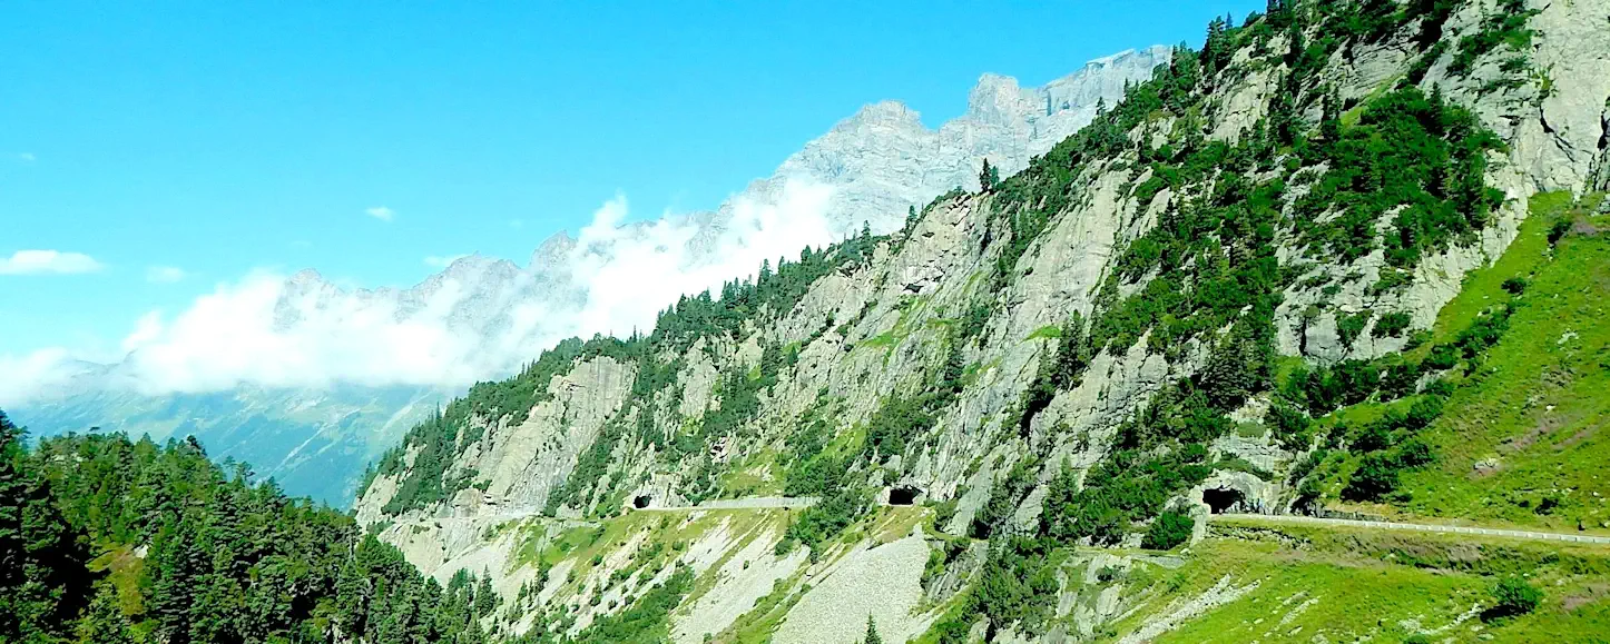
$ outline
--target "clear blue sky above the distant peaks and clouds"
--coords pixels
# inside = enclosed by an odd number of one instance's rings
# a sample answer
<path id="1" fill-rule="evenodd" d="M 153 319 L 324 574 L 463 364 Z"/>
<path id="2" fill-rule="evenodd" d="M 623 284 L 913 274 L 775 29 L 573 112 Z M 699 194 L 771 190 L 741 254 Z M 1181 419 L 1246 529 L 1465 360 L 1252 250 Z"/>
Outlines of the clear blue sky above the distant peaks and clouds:
<path id="1" fill-rule="evenodd" d="M 617 193 L 712 208 L 865 103 L 937 126 L 982 72 L 1038 85 L 1262 5 L 6 3 L 0 261 L 85 258 L 0 270 L 0 356 L 109 351 L 258 269 L 523 264 Z"/>

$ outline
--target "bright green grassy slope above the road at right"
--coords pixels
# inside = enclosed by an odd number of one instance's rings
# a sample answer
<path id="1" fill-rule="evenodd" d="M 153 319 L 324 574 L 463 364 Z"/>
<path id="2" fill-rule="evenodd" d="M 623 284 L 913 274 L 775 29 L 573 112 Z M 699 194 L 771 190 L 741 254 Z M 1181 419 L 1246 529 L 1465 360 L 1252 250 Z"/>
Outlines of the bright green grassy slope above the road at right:
<path id="1" fill-rule="evenodd" d="M 1444 375 L 1454 393 L 1422 435 L 1436 460 L 1406 470 L 1391 504 L 1343 507 L 1610 533 L 1610 216 L 1594 214 L 1600 200 L 1536 196 L 1504 256 L 1467 277 L 1433 341 L 1410 357 L 1510 303 L 1502 340 L 1468 369 Z M 1359 404 L 1333 415 L 1357 423 L 1380 412 Z M 1330 469 L 1327 488 L 1340 486 L 1343 470 Z"/>

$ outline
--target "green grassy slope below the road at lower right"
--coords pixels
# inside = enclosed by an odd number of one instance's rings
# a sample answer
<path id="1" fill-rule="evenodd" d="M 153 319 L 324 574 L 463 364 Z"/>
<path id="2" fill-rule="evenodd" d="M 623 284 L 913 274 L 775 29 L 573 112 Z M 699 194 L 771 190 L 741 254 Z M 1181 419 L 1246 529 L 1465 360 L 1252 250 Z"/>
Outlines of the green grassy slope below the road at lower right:
<path id="1" fill-rule="evenodd" d="M 1228 580 L 1256 584 L 1154 642 L 1604 642 L 1610 551 L 1441 535 L 1216 526 L 1185 567 L 1140 576 L 1153 596 L 1108 631 L 1116 638 Z M 1528 615 L 1483 620 L 1499 580 L 1542 589 Z M 1132 575 L 1132 580 L 1135 575 Z M 1141 592 L 1125 588 L 1125 594 Z"/>

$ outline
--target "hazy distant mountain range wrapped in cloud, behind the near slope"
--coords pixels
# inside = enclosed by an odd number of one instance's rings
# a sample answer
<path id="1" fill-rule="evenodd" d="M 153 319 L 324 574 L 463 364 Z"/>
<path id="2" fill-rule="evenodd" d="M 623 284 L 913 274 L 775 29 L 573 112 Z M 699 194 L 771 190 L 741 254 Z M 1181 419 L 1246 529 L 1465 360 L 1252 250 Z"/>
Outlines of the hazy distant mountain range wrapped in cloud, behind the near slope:
<path id="1" fill-rule="evenodd" d="M 1043 89 L 985 76 L 968 113 L 939 130 L 924 127 L 918 113 L 900 103 L 877 103 L 807 143 L 773 177 L 757 180 L 716 213 L 628 224 L 596 237 L 559 233 L 525 267 L 467 256 L 407 290 L 345 290 L 303 270 L 283 283 L 262 285 L 272 298 L 272 320 L 248 322 L 261 322 L 262 333 L 283 340 L 293 353 L 309 353 L 283 359 L 287 369 L 256 369 L 243 377 L 214 367 L 211 353 L 137 349 L 118 365 L 87 365 L 52 394 L 11 404 L 11 412 L 40 435 L 90 427 L 158 440 L 195 435 L 214 456 L 250 460 L 293 494 L 346 506 L 364 464 L 448 396 L 518 372 L 560 338 L 625 333 L 630 324 L 610 324 L 621 317 L 612 308 L 618 304 L 613 295 L 594 293 L 592 285 L 607 280 L 612 262 L 658 246 L 655 235 L 663 229 L 673 229 L 684 248 L 657 253 L 665 254 L 667 269 L 686 274 L 721 270 L 728 254 L 757 246 L 766 235 L 773 246 L 781 242 L 779 248 L 797 251 L 803 242 L 791 230 L 766 229 L 787 222 L 766 217 L 823 217 L 826 227 L 815 232 L 823 242 L 868 222 L 877 232 L 898 229 L 910 206 L 958 185 L 977 188 L 976 167 L 984 158 L 1005 171 L 1024 167 L 1032 155 L 1090 122 L 1096 103 L 1117 101 L 1125 84 L 1146 77 L 1167 56 L 1161 47 L 1117 53 Z M 803 196 L 807 211 L 784 211 L 802 200 L 802 185 L 811 187 Z M 778 213 L 757 214 L 766 208 Z M 765 256 L 755 256 L 757 262 Z M 715 274 L 720 277 L 729 275 Z M 644 293 L 657 301 L 626 304 L 652 314 L 683 285 L 667 288 Z M 359 357 L 327 364 L 327 354 L 346 353 Z M 369 364 L 380 357 L 388 362 Z M 182 390 L 153 391 L 151 372 L 166 374 L 174 365 L 187 367 L 177 378 Z"/>

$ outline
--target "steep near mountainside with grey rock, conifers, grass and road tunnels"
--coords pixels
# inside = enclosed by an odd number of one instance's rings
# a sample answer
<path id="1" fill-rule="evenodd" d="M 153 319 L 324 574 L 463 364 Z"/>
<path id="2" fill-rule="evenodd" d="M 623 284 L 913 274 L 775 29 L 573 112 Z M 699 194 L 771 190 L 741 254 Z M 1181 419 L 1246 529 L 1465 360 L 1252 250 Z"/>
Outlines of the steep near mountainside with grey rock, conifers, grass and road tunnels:
<path id="1" fill-rule="evenodd" d="M 1272 2 L 1167 60 L 898 230 L 477 385 L 357 520 L 526 641 L 1602 634 L 1594 546 L 1259 517 L 1610 535 L 1610 3 Z"/>

